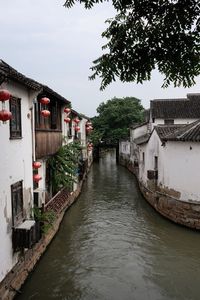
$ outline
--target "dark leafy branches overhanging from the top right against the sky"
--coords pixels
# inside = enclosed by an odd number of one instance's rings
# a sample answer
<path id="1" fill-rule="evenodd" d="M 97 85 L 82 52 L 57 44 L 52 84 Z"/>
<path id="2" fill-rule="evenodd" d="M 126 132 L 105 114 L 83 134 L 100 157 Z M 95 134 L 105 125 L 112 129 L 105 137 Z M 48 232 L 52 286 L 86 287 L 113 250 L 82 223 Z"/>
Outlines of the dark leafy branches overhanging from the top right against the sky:
<path id="1" fill-rule="evenodd" d="M 67 0 L 90 9 L 108 0 Z M 108 43 L 105 54 L 91 67 L 90 79 L 99 76 L 103 90 L 116 78 L 142 83 L 151 79 L 152 70 L 164 76 L 163 87 L 190 87 L 200 75 L 199 0 L 112 0 L 117 14 L 107 20 L 102 33 Z"/>

